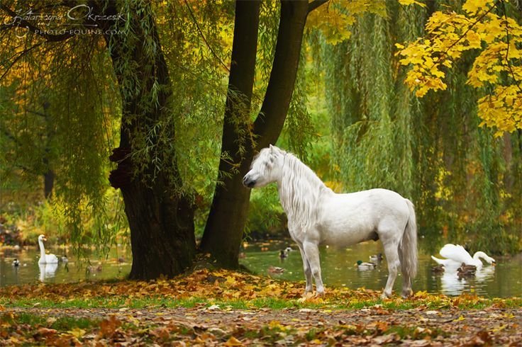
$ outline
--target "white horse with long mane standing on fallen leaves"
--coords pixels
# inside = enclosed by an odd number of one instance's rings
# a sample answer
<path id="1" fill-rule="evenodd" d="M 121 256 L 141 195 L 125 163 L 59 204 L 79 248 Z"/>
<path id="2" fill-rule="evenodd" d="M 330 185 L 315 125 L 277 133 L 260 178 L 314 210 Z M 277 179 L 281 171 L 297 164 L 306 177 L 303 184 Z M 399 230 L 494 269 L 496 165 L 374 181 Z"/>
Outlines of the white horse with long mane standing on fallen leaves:
<path id="1" fill-rule="evenodd" d="M 388 261 L 388 280 L 382 297 L 390 297 L 399 267 L 404 280 L 402 296 L 411 294 L 417 270 L 417 227 L 413 203 L 386 189 L 337 194 L 294 155 L 275 146 L 265 148 L 252 161 L 243 184 L 248 188 L 277 182 L 279 199 L 288 217 L 290 236 L 303 258 L 307 292 L 324 294 L 319 262 L 320 244 L 349 246 L 381 239 Z"/>

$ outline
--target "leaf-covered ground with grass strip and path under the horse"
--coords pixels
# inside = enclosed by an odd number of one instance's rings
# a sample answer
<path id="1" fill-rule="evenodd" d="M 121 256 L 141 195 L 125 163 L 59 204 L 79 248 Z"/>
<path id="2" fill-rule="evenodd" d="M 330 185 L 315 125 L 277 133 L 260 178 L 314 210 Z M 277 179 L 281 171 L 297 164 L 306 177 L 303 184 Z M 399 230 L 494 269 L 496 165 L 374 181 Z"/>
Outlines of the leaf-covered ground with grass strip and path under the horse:
<path id="1" fill-rule="evenodd" d="M 522 346 L 522 298 L 328 288 L 201 270 L 152 282 L 0 289 L 0 345 Z"/>

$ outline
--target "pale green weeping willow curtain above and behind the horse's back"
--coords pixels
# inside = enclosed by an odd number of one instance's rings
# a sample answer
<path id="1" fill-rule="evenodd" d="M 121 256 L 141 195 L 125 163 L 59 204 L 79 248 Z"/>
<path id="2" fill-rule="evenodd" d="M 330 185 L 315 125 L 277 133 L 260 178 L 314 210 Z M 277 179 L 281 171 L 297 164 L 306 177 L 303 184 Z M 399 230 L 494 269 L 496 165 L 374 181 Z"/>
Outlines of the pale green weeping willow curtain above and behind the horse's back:
<path id="1" fill-rule="evenodd" d="M 394 43 L 421 36 L 428 10 L 386 4 L 385 16 L 360 16 L 349 40 L 323 40 L 338 180 L 348 191 L 383 187 L 412 198 L 428 249 L 443 241 L 521 249 L 520 136 L 495 139 L 479 127 L 480 95 L 466 84 L 471 54 L 448 72 L 447 91 L 415 98 Z"/>

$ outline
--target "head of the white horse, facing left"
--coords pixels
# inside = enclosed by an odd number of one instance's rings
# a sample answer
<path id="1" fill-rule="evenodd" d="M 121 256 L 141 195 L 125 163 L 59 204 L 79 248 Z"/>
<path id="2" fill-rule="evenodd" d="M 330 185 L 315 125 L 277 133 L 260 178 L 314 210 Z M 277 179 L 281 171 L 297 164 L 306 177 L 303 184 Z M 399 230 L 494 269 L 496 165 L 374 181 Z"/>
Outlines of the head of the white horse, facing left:
<path id="1" fill-rule="evenodd" d="M 285 154 L 286 152 L 272 144 L 261 149 L 252 161 L 250 171 L 243 177 L 243 184 L 248 188 L 259 188 L 278 181 L 282 176 Z"/>

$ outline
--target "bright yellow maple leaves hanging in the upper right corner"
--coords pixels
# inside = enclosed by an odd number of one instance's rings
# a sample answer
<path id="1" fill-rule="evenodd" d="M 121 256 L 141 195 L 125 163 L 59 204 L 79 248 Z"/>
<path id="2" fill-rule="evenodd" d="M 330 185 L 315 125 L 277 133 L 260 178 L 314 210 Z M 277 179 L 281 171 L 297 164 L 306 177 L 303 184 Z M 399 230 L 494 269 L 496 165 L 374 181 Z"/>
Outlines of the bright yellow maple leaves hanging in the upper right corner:
<path id="1" fill-rule="evenodd" d="M 409 0 L 399 0 L 401 4 Z M 445 68 L 462 53 L 480 50 L 467 75 L 467 84 L 493 90 L 479 99 L 481 125 L 496 128 L 496 136 L 522 129 L 522 27 L 493 11 L 494 0 L 467 0 L 464 15 L 433 13 L 426 23 L 426 38 L 396 44 L 399 63 L 411 67 L 404 83 L 416 96 L 446 89 Z"/>

